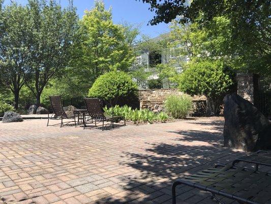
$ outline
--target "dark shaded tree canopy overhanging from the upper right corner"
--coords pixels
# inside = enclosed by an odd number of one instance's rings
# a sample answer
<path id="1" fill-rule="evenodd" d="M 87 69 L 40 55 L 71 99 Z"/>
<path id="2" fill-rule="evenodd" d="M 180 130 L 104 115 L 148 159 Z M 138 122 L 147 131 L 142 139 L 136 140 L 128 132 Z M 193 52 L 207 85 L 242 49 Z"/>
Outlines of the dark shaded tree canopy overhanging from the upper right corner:
<path id="1" fill-rule="evenodd" d="M 196 22 L 199 29 L 210 29 L 214 18 L 228 20 L 228 40 L 234 46 L 224 49 L 222 55 L 230 52 L 238 56 L 239 68 L 243 70 L 270 74 L 270 0 L 195 0 L 190 4 L 185 0 L 142 1 L 156 13 L 150 24 L 168 23 L 178 16 L 182 23 Z"/>

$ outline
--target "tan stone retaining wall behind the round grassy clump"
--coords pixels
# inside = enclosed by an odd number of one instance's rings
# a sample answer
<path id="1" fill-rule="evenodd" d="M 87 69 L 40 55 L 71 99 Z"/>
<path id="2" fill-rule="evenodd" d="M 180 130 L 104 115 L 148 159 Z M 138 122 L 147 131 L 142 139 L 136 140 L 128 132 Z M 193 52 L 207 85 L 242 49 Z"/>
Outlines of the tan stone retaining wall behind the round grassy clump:
<path id="1" fill-rule="evenodd" d="M 140 109 L 150 109 L 155 112 L 163 110 L 163 103 L 169 95 L 182 95 L 178 89 L 147 89 L 139 91 Z M 195 116 L 206 115 L 206 97 L 193 96 Z"/>

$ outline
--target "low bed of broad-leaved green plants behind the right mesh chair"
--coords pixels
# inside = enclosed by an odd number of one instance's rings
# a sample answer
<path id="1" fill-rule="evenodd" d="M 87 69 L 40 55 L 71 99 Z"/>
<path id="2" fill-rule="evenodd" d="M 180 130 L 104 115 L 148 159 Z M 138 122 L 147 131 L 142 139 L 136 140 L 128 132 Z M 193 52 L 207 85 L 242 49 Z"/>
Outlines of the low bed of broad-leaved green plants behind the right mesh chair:
<path id="1" fill-rule="evenodd" d="M 131 120 L 134 123 L 154 123 L 155 121 L 166 122 L 168 120 L 168 115 L 164 112 L 160 112 L 157 114 L 148 109 L 133 110 L 131 107 L 128 106 L 119 107 L 118 105 L 116 105 L 115 107 L 111 108 L 105 107 L 104 111 L 107 115 L 111 115 L 113 113 L 113 115 L 115 116 L 125 116 L 127 120 Z"/>

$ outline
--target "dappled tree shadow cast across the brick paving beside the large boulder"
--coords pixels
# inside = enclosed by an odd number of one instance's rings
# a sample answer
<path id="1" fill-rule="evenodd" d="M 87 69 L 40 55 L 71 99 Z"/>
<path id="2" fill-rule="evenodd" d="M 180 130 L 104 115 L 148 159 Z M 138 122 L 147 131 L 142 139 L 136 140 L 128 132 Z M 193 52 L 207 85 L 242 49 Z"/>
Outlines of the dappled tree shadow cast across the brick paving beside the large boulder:
<path id="1" fill-rule="evenodd" d="M 211 124 L 213 128 L 214 123 Z M 121 198 L 109 196 L 97 203 L 171 203 L 171 184 L 175 179 L 218 163 L 227 164 L 244 155 L 223 147 L 222 124 L 218 122 L 215 125 L 216 132 L 171 131 L 177 135 L 172 144 L 146 143 L 151 147 L 144 149 L 143 153 L 123 152 L 123 157 L 129 162 L 121 165 L 136 170 L 119 178 L 125 182 L 123 188 L 127 195 Z M 223 201 L 232 203 L 225 198 Z M 207 192 L 180 185 L 177 187 L 177 203 L 217 202 L 210 199 Z"/>

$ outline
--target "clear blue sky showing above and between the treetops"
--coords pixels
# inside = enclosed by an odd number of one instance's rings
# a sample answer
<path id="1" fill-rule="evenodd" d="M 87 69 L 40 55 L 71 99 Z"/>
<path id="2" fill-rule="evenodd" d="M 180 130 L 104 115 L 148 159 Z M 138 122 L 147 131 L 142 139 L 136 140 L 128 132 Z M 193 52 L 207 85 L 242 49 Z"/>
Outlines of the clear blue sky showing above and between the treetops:
<path id="1" fill-rule="evenodd" d="M 27 0 L 15 0 L 18 3 L 25 4 Z M 68 0 L 57 0 L 62 6 L 67 6 Z M 9 4 L 10 0 L 5 0 L 5 4 Z M 168 24 L 160 23 L 158 25 L 147 25 L 149 19 L 152 19 L 154 13 L 148 10 L 148 5 L 142 1 L 135 0 L 104 0 L 105 6 L 108 9 L 112 7 L 114 23 L 122 23 L 123 21 L 132 24 L 141 24 L 141 33 L 150 37 L 156 37 L 162 33 L 169 31 Z M 82 17 L 84 10 L 91 9 L 94 5 L 94 0 L 74 0 L 74 5 L 77 7 L 79 17 Z"/>

